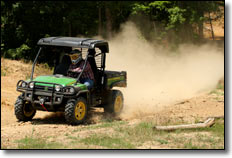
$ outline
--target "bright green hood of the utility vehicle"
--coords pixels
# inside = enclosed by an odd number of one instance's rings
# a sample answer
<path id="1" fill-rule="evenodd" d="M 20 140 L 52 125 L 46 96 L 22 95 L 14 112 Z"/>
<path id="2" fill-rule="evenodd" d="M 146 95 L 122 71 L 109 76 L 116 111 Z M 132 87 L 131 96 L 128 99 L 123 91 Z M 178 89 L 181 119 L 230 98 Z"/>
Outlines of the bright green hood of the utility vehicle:
<path id="1" fill-rule="evenodd" d="M 75 79 L 70 77 L 60 77 L 60 76 L 38 76 L 33 81 L 39 81 L 39 82 L 48 82 L 48 83 L 57 83 L 61 84 L 62 86 L 68 86 L 72 85 L 76 82 Z M 42 83 L 37 83 L 38 85 L 44 85 Z M 46 84 L 49 86 L 48 84 Z"/>

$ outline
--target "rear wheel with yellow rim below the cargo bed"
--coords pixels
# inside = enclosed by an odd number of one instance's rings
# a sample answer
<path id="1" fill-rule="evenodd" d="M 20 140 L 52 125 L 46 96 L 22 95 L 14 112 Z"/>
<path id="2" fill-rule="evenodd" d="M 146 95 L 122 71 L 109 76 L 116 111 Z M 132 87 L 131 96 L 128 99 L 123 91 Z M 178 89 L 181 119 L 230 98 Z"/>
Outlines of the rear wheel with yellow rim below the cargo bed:
<path id="1" fill-rule="evenodd" d="M 119 90 L 112 90 L 108 95 L 108 104 L 104 106 L 104 111 L 106 113 L 118 116 L 123 109 L 124 99 L 123 94 Z"/>

